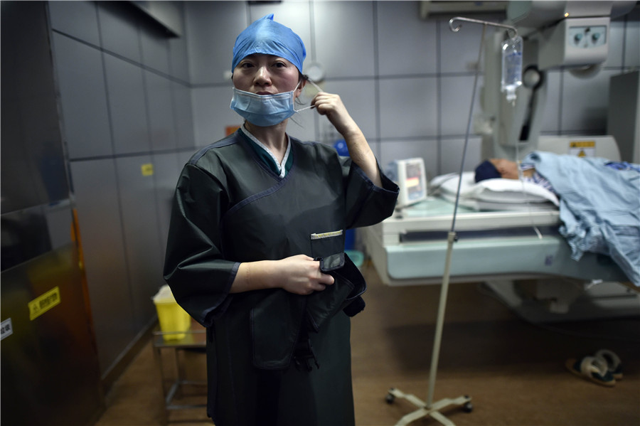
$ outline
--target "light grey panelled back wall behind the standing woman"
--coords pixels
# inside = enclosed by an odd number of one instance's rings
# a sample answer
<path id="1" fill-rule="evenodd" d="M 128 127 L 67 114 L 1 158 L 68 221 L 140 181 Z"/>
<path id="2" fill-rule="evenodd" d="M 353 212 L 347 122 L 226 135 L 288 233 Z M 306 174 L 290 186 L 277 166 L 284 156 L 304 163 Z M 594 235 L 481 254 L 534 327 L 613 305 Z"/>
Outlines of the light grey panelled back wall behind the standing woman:
<path id="1" fill-rule="evenodd" d="M 459 170 L 482 26 L 449 29 L 449 17 L 423 20 L 418 1 L 197 1 L 186 8 L 196 144 L 224 136 L 240 117 L 230 112 L 230 68 L 235 37 L 253 20 L 273 13 L 301 36 L 305 64 L 326 70 L 324 90 L 341 95 L 380 164 L 422 156 L 430 176 Z M 500 16 L 480 16 L 491 21 Z M 547 75 L 543 134 L 604 134 L 609 77 L 640 66 L 639 8 L 612 22 L 609 58 L 594 78 L 567 70 Z M 479 78 L 478 89 L 482 85 Z M 479 110 L 476 95 L 474 113 Z M 289 122 L 300 139 L 331 142 L 329 123 L 314 111 Z M 335 135 L 333 135 L 335 137 Z M 465 169 L 480 158 L 471 135 Z"/>

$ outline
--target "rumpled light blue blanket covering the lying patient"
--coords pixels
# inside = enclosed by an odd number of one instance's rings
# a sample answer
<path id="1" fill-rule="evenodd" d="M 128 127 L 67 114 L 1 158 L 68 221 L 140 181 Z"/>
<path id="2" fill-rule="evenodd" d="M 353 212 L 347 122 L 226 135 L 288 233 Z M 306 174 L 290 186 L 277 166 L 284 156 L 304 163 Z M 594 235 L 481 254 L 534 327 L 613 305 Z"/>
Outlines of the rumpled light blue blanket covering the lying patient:
<path id="1" fill-rule="evenodd" d="M 607 167 L 607 159 L 535 151 L 523 162 L 553 185 L 560 197 L 560 233 L 572 258 L 609 255 L 640 287 L 640 173 Z"/>

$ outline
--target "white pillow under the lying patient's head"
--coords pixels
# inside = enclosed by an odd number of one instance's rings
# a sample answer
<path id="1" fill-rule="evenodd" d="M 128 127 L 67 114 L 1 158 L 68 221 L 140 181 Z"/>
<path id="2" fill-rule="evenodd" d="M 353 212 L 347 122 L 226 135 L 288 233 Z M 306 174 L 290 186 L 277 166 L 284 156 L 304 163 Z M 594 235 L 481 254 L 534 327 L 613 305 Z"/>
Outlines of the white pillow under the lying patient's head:
<path id="1" fill-rule="evenodd" d="M 455 201 L 458 190 L 457 173 L 436 176 L 430 182 L 431 191 L 439 189 L 444 198 Z M 549 210 L 559 205 L 558 197 L 535 183 L 516 179 L 486 179 L 476 183 L 474 172 L 462 174 L 459 203 L 477 210 Z M 553 206 L 551 204 L 553 203 Z"/>

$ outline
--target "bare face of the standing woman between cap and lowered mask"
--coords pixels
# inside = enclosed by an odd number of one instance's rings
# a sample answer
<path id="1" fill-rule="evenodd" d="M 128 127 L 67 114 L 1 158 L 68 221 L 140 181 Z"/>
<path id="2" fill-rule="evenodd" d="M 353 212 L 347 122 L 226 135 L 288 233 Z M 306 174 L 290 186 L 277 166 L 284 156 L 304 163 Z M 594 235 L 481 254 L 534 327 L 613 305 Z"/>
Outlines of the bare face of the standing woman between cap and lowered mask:
<path id="1" fill-rule="evenodd" d="M 257 95 L 274 95 L 296 89 L 300 73 L 295 65 L 284 58 L 254 53 L 240 60 L 231 79 L 236 89 Z M 300 86 L 295 97 L 302 92 Z"/>

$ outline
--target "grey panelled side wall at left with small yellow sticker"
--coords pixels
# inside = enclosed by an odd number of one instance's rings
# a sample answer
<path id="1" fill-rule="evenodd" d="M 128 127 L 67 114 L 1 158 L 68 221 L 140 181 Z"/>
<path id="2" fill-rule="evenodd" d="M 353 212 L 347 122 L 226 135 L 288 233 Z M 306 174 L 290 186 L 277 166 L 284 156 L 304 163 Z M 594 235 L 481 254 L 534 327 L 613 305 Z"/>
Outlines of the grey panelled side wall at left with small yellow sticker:
<path id="1" fill-rule="evenodd" d="M 49 14 L 61 136 L 105 374 L 151 324 L 150 300 L 164 283 L 169 203 L 195 149 L 188 43 L 169 38 L 127 1 L 42 6 Z M 228 99 L 230 89 L 224 90 Z M 198 108 L 198 123 L 208 122 L 203 111 Z"/>

